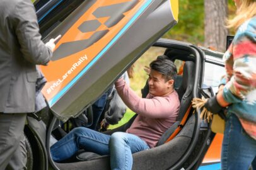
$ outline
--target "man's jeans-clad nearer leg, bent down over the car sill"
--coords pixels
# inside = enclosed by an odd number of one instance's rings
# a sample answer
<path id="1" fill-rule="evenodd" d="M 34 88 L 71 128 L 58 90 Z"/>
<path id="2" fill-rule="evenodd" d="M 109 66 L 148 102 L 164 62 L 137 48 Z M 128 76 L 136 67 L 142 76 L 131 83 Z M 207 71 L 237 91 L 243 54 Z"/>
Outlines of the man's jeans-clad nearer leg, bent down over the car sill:
<path id="1" fill-rule="evenodd" d="M 110 166 L 112 170 L 132 169 L 132 154 L 149 149 L 148 144 L 136 135 L 115 132 L 110 137 Z"/>

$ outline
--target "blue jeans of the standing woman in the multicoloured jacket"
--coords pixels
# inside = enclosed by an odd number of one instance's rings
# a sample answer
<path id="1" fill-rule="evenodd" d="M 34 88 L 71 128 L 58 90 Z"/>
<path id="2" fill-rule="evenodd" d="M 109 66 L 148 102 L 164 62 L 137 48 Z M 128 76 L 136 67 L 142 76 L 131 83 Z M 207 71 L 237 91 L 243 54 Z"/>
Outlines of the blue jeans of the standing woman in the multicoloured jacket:
<path id="1" fill-rule="evenodd" d="M 221 169 L 256 169 L 256 140 L 247 135 L 238 117 L 231 113 L 226 121 L 221 150 Z"/>

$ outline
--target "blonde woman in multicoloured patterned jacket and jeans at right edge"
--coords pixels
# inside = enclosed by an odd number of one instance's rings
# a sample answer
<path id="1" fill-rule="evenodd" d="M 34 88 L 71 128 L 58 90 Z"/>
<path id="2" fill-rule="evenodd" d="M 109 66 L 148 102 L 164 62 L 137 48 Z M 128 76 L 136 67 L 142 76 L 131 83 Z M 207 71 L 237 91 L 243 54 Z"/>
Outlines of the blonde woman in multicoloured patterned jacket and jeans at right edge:
<path id="1" fill-rule="evenodd" d="M 256 169 L 256 0 L 234 0 L 237 14 L 228 21 L 236 28 L 223 56 L 226 80 L 223 91 L 206 103 L 218 113 L 228 106 L 221 152 L 221 169 Z"/>

